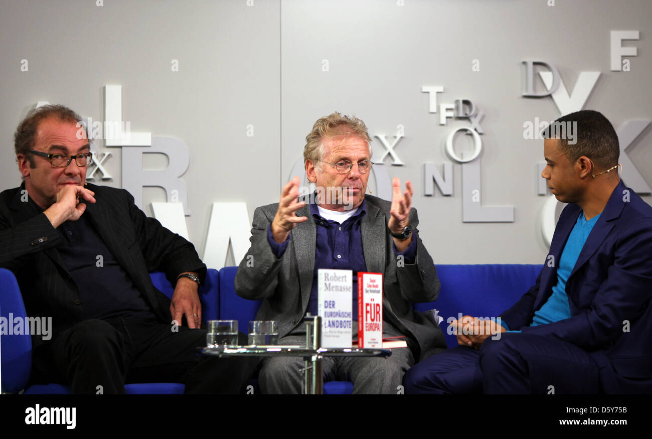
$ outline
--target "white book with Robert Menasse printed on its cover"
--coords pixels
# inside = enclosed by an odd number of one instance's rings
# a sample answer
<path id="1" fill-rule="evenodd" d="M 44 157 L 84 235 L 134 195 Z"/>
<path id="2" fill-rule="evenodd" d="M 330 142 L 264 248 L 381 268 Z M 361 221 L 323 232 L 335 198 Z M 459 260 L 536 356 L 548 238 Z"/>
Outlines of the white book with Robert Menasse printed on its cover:
<path id="1" fill-rule="evenodd" d="M 350 348 L 353 337 L 353 271 L 320 268 L 317 276 L 321 347 Z"/>

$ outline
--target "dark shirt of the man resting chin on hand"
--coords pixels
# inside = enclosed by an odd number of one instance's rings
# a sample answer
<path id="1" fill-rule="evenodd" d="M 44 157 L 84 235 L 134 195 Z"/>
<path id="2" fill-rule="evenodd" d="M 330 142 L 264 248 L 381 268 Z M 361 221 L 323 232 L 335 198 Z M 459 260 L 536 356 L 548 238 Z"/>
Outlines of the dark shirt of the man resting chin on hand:
<path id="1" fill-rule="evenodd" d="M 57 230 L 65 242 L 57 250 L 77 284 L 84 318 L 156 319 L 87 215 L 66 221 Z"/>

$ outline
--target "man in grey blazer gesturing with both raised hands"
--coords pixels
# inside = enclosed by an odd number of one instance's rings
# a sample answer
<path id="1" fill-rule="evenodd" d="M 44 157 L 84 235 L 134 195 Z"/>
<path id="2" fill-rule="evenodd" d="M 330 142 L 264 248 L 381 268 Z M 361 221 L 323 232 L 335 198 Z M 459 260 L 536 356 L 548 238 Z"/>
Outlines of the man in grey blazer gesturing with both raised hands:
<path id="1" fill-rule="evenodd" d="M 353 393 L 396 394 L 415 361 L 445 348 L 432 316 L 412 309 L 413 302 L 436 299 L 439 281 L 419 238 L 411 183 L 402 192 L 394 178 L 391 202 L 365 196 L 371 154 L 363 121 L 339 113 L 319 119 L 304 147 L 306 175 L 316 192 L 298 200 L 294 177 L 278 203 L 256 209 L 252 245 L 238 268 L 235 290 L 246 299 L 263 299 L 256 318 L 278 321 L 280 344 L 304 345 L 303 318 L 318 312 L 318 269 L 353 270 L 354 339 L 357 273 L 383 273 L 383 337 L 405 336 L 408 347 L 394 349 L 388 359 L 327 357 L 323 374 L 325 380 L 353 382 Z M 265 359 L 261 391 L 300 393 L 302 366 L 300 358 Z"/>

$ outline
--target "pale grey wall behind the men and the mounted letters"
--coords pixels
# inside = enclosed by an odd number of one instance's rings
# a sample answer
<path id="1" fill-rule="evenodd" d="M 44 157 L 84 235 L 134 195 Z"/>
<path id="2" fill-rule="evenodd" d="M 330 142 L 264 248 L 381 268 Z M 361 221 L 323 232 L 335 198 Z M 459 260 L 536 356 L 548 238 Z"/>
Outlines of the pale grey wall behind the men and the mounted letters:
<path id="1" fill-rule="evenodd" d="M 404 166 L 387 155 L 376 172 L 411 179 L 422 239 L 436 263 L 542 263 L 547 245 L 537 194 L 541 140 L 524 138 L 524 123 L 559 117 L 550 96 L 522 96 L 522 61 L 554 65 L 572 97 L 581 72 L 600 72 L 580 107 L 599 110 L 617 129 L 652 121 L 650 30 L 645 0 L 1 0 L 0 187 L 20 183 L 13 153 L 18 122 L 38 101 L 70 106 L 103 121 L 104 86 L 122 86 L 122 116 L 133 132 L 181 140 L 189 165 L 188 235 L 204 252 L 211 205 L 276 202 L 301 160 L 316 119 L 333 111 L 363 119 L 373 136 L 394 142 Z M 611 31 L 638 31 L 629 71 L 610 70 Z M 25 62 L 26 61 L 26 62 Z M 546 70 L 542 68 L 542 70 Z M 467 119 L 429 112 L 424 86 L 441 86 L 437 104 L 469 99 L 480 125 L 481 203 L 513 206 L 513 222 L 462 222 L 462 165 L 445 152 Z M 544 86 L 537 78 L 537 91 Z M 577 108 L 579 109 L 579 108 Z M 648 126 L 627 156 L 652 185 Z M 471 136 L 455 150 L 469 153 Z M 102 166 L 122 187 L 121 147 L 97 140 Z M 385 147 L 374 138 L 374 159 Z M 425 195 L 424 163 L 452 163 L 452 195 Z M 168 160 L 145 154 L 143 170 Z M 623 176 L 627 183 L 627 167 Z M 96 172 L 99 177 L 101 174 Z M 374 194 L 379 188 L 370 179 Z M 430 184 L 430 183 L 428 183 Z M 143 210 L 170 201 L 163 189 L 141 189 Z M 642 194 L 647 202 L 649 194 Z M 224 224 L 228 227 L 229 224 Z M 237 263 L 226 258 L 227 265 Z"/>

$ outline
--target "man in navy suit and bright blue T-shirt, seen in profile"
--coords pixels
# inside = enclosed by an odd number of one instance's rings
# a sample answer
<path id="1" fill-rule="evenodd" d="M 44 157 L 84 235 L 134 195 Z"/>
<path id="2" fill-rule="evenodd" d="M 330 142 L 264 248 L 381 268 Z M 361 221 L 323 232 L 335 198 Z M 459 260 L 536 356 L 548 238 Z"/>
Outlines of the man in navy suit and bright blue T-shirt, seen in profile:
<path id="1" fill-rule="evenodd" d="M 500 320 L 454 322 L 460 346 L 410 369 L 407 393 L 652 393 L 652 207 L 602 114 L 564 124 L 577 137 L 544 133 L 541 175 L 569 205 L 535 285 Z"/>

